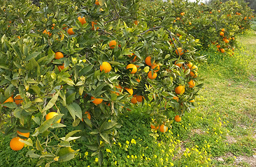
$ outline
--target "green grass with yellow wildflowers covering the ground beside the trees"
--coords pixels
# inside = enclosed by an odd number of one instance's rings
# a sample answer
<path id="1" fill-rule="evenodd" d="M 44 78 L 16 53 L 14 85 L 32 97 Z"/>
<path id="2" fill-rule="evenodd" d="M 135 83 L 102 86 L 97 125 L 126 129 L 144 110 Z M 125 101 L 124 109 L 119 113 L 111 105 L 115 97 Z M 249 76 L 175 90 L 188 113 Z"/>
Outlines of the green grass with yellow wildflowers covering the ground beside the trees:
<path id="1" fill-rule="evenodd" d="M 248 31 L 237 37 L 233 56 L 214 48 L 201 51 L 208 63 L 199 66 L 205 83 L 197 97 L 199 107 L 173 122 L 168 133 L 150 130 L 151 119 L 143 115 L 148 104 L 122 116 L 120 137 L 103 150 L 104 166 L 256 166 L 255 36 Z M 36 165 L 36 160 L 25 157 L 27 148 L 13 152 L 10 137 L 0 137 L 0 166 Z M 97 166 L 86 143 L 78 143 L 73 143 L 74 150 L 80 149 L 75 159 L 51 166 Z"/>

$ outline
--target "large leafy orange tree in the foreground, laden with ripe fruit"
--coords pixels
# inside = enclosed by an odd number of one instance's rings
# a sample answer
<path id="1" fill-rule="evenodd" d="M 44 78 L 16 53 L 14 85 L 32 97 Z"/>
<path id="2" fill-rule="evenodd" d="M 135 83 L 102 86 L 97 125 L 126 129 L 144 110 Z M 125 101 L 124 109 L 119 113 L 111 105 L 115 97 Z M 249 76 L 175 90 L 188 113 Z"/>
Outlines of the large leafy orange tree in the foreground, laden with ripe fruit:
<path id="1" fill-rule="evenodd" d="M 1 3 L 0 128 L 19 137 L 14 150 L 28 145 L 38 165 L 73 159 L 74 140 L 87 143 L 101 164 L 104 145 L 118 138 L 118 117 L 138 102 L 151 104 L 145 114 L 160 132 L 171 127 L 171 113 L 194 108 L 196 62 L 205 58 L 194 48 L 199 40 L 169 24 L 162 7 L 135 0 Z"/>

